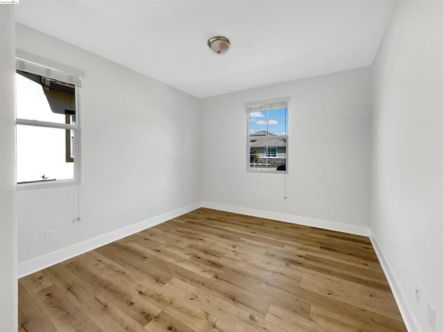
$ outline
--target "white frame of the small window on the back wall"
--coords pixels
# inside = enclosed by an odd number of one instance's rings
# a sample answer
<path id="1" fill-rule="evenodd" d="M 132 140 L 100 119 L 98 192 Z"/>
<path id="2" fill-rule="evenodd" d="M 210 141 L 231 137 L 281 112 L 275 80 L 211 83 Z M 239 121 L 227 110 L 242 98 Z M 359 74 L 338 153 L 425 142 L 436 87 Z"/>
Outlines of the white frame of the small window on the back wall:
<path id="1" fill-rule="evenodd" d="M 273 98 L 269 100 L 260 100 L 257 102 L 246 102 L 244 104 L 244 107 L 246 109 L 246 172 L 248 173 L 260 173 L 260 174 L 288 174 L 289 169 L 289 97 L 281 97 L 281 98 Z M 273 107 L 273 104 L 281 104 L 284 106 L 281 107 Z M 285 152 L 285 159 L 286 159 L 286 170 L 285 171 L 278 171 L 278 170 L 270 170 L 270 169 L 253 169 L 251 168 L 251 136 L 250 136 L 250 113 L 260 112 L 260 111 L 272 111 L 272 109 L 287 109 L 287 133 L 285 136 L 275 135 L 272 136 L 273 138 L 286 138 L 286 152 Z M 278 158 L 278 148 L 275 148 L 275 157 L 269 157 L 267 156 L 267 151 L 269 147 L 264 148 L 264 155 L 266 158 L 269 159 L 277 159 Z"/>

